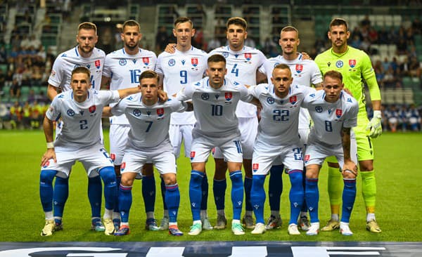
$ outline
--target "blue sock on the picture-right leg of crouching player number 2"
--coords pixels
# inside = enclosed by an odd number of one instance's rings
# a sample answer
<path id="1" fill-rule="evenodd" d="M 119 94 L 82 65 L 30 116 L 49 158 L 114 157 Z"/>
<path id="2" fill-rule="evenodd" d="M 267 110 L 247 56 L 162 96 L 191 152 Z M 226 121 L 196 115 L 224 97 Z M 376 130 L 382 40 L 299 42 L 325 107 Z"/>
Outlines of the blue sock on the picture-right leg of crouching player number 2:
<path id="1" fill-rule="evenodd" d="M 106 200 L 106 209 L 113 210 L 117 204 L 117 184 L 114 167 L 104 167 L 100 171 L 101 179 L 104 183 L 104 199 Z"/>

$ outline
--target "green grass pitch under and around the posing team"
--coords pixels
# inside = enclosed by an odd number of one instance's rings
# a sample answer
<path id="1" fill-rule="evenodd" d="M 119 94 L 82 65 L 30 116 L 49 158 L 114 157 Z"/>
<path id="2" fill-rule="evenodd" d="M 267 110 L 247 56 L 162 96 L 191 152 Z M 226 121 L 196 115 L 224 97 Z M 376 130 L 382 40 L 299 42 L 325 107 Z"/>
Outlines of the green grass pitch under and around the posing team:
<path id="1" fill-rule="evenodd" d="M 108 144 L 108 133 L 105 133 Z M 422 145 L 421 133 L 384 133 L 374 140 L 376 150 L 377 206 L 376 216 L 383 232 L 371 234 L 365 230 L 365 208 L 361 195 L 361 181 L 358 179 L 358 194 L 352 213 L 350 228 L 352 237 L 343 237 L 336 232 L 321 232 L 318 236 L 307 237 L 304 232 L 300 236 L 289 236 L 287 224 L 289 218 L 288 176 L 283 175 L 283 196 L 281 215 L 283 226 L 279 230 L 267 231 L 264 235 L 234 236 L 231 230 L 203 231 L 196 237 L 187 235 L 191 225 L 191 210 L 188 199 L 188 182 L 190 164 L 188 158 L 178 160 L 178 183 L 181 191 L 179 209 L 179 228 L 185 232 L 183 237 L 171 237 L 167 231 L 150 232 L 144 229 L 146 216 L 141 197 L 141 181 L 134 183 L 134 202 L 130 215 L 131 235 L 110 237 L 101 232 L 90 230 L 91 211 L 87 198 L 87 177 L 81 164 L 72 170 L 70 178 L 70 194 L 63 218 L 64 230 L 56 232 L 52 237 L 39 235 L 44 226 L 44 213 L 39 201 L 39 163 L 46 150 L 42 131 L 0 131 L 0 217 L 2 230 L 0 242 L 50 242 L 50 241 L 87 241 L 87 242 L 120 242 L 120 241 L 421 241 L 422 204 L 422 172 L 419 161 L 422 158 L 419 147 Z M 213 161 L 207 164 L 210 182 L 208 197 L 208 216 L 215 223 L 216 211 L 212 197 Z M 155 218 L 162 217 L 162 199 L 160 195 L 158 173 L 155 173 L 158 194 L 155 203 Z M 268 179 L 267 179 L 268 182 Z M 267 187 L 267 185 L 266 185 Z M 226 216 L 231 217 L 230 201 L 231 183 L 228 180 L 226 192 Z M 326 193 L 326 169 L 321 169 L 319 180 L 321 225 L 329 218 L 328 195 Z M 269 216 L 268 201 L 265 217 Z M 230 222 L 230 219 L 229 219 Z"/>

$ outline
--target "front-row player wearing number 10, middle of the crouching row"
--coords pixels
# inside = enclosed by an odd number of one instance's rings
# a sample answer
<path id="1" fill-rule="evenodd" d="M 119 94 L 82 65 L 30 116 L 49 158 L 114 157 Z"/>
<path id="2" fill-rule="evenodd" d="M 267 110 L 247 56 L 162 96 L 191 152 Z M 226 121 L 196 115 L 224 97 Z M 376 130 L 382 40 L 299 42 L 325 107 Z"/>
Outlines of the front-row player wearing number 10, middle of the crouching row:
<path id="1" fill-rule="evenodd" d="M 178 100 L 192 99 L 196 124 L 192 131 L 191 181 L 189 197 L 193 225 L 189 235 L 199 235 L 202 231 L 200 205 L 202 195 L 200 185 L 205 172 L 205 161 L 213 147 L 220 147 L 227 160 L 231 178 L 231 200 L 233 220 L 231 231 L 234 235 L 244 235 L 241 225 L 243 204 L 242 146 L 238 129 L 236 106 L 239 100 L 250 100 L 248 90 L 237 81 L 225 78 L 226 59 L 219 54 L 207 59 L 207 75 L 204 79 L 188 84 L 177 93 Z"/>

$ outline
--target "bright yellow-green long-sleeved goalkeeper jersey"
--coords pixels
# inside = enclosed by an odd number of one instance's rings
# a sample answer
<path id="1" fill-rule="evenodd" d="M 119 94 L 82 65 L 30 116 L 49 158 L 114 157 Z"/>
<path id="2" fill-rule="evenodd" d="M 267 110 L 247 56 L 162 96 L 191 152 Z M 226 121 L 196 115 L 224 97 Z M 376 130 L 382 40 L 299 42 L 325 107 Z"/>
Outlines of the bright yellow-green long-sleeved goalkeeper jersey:
<path id="1" fill-rule="evenodd" d="M 316 56 L 315 62 L 323 75 L 330 70 L 338 71 L 343 75 L 345 88 L 350 90 L 359 103 L 359 113 L 366 113 L 363 81 L 366 81 L 368 85 L 371 100 L 381 100 L 380 88 L 371 59 L 364 51 L 347 46 L 345 53 L 337 54 L 333 52 L 333 48 L 330 48 Z"/>

